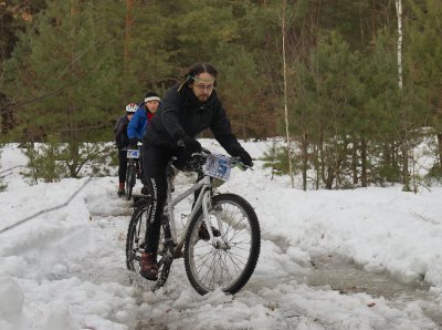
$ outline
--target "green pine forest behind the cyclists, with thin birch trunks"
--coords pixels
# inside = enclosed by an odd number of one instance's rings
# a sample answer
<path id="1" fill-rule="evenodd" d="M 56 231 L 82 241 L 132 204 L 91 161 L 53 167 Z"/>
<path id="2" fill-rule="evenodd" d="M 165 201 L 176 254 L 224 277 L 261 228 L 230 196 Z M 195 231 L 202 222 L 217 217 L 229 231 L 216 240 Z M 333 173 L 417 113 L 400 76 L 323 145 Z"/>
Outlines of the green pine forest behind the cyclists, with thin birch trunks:
<path id="1" fill-rule="evenodd" d="M 127 103 L 209 62 L 236 136 L 286 141 L 275 173 L 412 190 L 418 145 L 442 178 L 441 22 L 440 0 L 0 0 L 0 143 L 78 177 Z"/>

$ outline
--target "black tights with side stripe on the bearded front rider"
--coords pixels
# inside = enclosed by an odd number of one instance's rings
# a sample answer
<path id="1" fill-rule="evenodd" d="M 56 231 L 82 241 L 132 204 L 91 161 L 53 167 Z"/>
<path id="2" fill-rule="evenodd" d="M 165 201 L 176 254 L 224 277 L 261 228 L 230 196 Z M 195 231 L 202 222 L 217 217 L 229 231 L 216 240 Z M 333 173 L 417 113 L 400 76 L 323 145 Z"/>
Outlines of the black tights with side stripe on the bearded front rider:
<path id="1" fill-rule="evenodd" d="M 190 157 L 183 148 L 168 148 L 155 145 L 143 145 L 143 171 L 151 195 L 152 214 L 150 226 L 146 230 L 146 252 L 157 255 L 161 218 L 167 199 L 167 163 L 172 156 L 178 159 L 173 166 L 186 172 L 197 172 L 202 177 L 201 158 Z M 199 192 L 196 192 L 198 196 Z"/>

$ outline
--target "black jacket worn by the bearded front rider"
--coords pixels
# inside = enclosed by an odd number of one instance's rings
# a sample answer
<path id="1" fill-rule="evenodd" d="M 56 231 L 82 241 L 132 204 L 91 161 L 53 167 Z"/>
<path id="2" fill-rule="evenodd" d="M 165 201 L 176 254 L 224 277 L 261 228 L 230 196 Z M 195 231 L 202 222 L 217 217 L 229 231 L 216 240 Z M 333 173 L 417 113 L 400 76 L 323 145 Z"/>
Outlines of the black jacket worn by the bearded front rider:
<path id="1" fill-rule="evenodd" d="M 177 147 L 183 135 L 194 137 L 206 128 L 210 128 L 214 138 L 232 156 L 242 148 L 232 133 L 230 121 L 217 96 L 212 92 L 207 102 L 199 101 L 187 86 L 176 84 L 167 91 L 166 96 L 146 130 L 144 143 L 166 147 Z"/>

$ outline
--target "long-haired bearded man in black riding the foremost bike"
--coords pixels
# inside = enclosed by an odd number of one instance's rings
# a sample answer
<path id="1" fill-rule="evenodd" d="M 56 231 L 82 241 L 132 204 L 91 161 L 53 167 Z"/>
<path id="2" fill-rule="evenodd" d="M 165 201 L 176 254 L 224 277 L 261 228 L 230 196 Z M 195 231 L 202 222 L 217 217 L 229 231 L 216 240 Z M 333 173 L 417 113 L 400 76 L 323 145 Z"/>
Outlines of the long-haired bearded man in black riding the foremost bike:
<path id="1" fill-rule="evenodd" d="M 185 79 L 167 92 L 143 137 L 143 171 L 154 210 L 146 231 L 147 246 L 140 259 L 140 275 L 148 280 L 156 280 L 158 275 L 157 249 L 167 199 L 166 168 L 169 159 L 176 156 L 173 165 L 177 168 L 197 172 L 200 178 L 201 161 L 192 158 L 191 154 L 201 151 L 201 144 L 194 136 L 209 127 L 229 154 L 253 166 L 252 157 L 233 135 L 230 121 L 214 92 L 217 76 L 218 71 L 211 64 L 193 64 Z"/>

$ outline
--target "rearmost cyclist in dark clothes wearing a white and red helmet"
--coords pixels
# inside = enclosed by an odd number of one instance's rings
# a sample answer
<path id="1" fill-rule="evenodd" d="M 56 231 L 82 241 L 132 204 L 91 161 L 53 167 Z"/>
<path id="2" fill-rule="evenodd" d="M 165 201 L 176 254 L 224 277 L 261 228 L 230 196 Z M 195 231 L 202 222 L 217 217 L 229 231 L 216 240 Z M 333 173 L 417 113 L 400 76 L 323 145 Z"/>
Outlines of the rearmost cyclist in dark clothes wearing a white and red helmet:
<path id="1" fill-rule="evenodd" d="M 127 136 L 127 126 L 131 121 L 134 113 L 138 110 L 138 105 L 129 103 L 126 105 L 126 114 L 118 117 L 114 127 L 114 138 L 118 148 L 118 196 L 126 195 L 125 182 L 127 169 L 127 152 L 126 147 L 129 145 Z"/>

